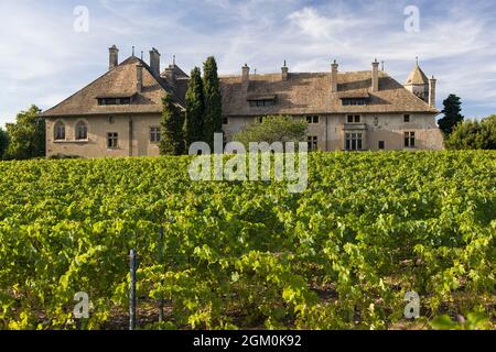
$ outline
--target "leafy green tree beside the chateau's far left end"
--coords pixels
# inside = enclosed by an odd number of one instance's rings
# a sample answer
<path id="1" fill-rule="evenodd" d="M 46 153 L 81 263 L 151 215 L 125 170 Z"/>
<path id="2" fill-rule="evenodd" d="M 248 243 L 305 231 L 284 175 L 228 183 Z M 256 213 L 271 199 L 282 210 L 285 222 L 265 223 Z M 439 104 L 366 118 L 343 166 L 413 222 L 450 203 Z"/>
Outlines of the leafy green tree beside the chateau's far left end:
<path id="1" fill-rule="evenodd" d="M 15 123 L 7 124 L 9 146 L 7 158 L 28 160 L 45 156 L 45 120 L 41 110 L 31 106 L 28 111 L 18 113 Z"/>

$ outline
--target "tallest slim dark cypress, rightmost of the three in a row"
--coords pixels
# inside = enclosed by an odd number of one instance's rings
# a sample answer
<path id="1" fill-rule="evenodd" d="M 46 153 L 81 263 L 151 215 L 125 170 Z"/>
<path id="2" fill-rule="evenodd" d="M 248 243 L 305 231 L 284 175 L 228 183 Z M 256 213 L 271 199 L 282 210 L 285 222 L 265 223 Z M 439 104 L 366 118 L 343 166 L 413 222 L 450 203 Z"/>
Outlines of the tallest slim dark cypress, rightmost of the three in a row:
<path id="1" fill-rule="evenodd" d="M 211 56 L 203 66 L 205 95 L 204 141 L 214 147 L 214 133 L 223 132 L 220 85 L 215 57 Z"/>

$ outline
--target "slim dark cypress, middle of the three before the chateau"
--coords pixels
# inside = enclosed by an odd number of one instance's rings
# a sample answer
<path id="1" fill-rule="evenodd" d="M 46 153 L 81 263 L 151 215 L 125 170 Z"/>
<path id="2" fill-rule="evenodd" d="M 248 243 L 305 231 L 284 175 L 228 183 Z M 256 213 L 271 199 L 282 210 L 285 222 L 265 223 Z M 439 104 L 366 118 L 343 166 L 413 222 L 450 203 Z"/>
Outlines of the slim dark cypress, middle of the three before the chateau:
<path id="1" fill-rule="evenodd" d="M 198 67 L 191 72 L 186 91 L 186 120 L 184 122 L 184 140 L 186 148 L 193 142 L 203 141 L 205 116 L 205 97 L 203 94 L 202 73 Z"/>

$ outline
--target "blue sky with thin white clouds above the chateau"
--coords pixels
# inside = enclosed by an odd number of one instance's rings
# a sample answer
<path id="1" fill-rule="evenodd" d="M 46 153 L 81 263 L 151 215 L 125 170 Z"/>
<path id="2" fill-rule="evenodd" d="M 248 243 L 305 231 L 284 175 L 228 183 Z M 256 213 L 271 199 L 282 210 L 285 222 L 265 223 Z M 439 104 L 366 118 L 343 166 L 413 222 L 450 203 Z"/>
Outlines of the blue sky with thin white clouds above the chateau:
<path id="1" fill-rule="evenodd" d="M 50 3 L 50 4 L 48 4 Z M 0 0 L 0 127 L 45 110 L 119 61 L 157 47 L 185 72 L 214 55 L 220 74 L 366 70 L 377 58 L 405 82 L 416 57 L 466 118 L 496 113 L 496 2 L 414 0 Z"/>

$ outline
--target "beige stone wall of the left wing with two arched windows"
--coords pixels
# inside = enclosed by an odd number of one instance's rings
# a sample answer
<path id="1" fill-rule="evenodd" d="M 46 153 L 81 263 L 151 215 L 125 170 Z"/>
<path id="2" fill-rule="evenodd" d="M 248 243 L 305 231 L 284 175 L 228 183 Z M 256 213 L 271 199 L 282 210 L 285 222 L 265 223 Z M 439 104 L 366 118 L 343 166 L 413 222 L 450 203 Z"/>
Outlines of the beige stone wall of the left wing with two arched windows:
<path id="1" fill-rule="evenodd" d="M 55 124 L 65 125 L 65 140 L 55 140 Z M 88 139 L 76 141 L 76 124 L 84 121 Z M 77 155 L 82 157 L 157 156 L 159 145 L 150 141 L 150 128 L 160 127 L 159 114 L 91 116 L 46 119 L 46 155 Z M 118 146 L 107 146 L 107 133 L 118 133 Z"/>

